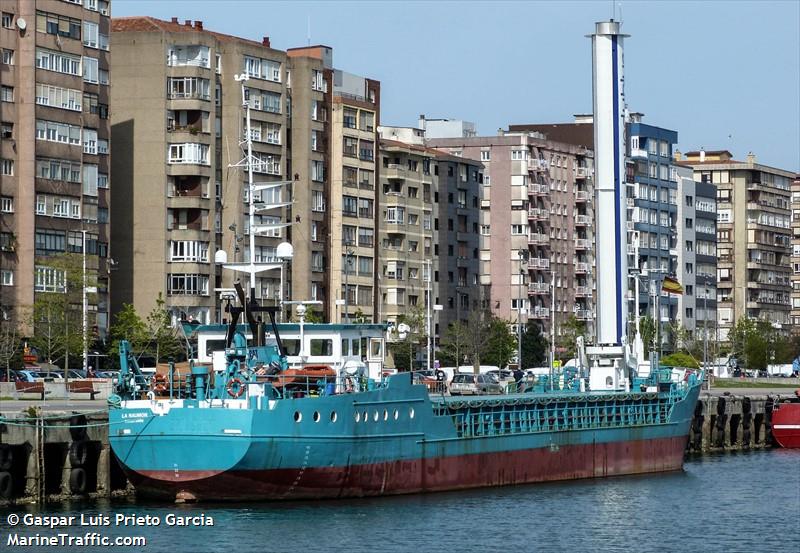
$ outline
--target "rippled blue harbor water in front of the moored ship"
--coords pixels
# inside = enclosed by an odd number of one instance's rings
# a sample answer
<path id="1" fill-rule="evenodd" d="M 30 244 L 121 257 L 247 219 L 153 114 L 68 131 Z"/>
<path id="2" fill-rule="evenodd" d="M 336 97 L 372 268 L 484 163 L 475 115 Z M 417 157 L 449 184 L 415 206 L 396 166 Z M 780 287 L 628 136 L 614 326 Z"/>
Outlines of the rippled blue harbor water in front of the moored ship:
<path id="1" fill-rule="evenodd" d="M 76 518 L 50 529 L 26 524 L 26 514 Z M 88 524 L 80 525 L 81 514 Z M 14 515 L 19 521 L 10 525 Z M 131 521 L 132 515 L 142 517 L 142 524 L 116 522 L 125 515 Z M 181 518 L 187 516 L 196 518 Z M 172 505 L 126 499 L 44 510 L 16 506 L 0 509 L 0 549 L 106 550 L 19 541 L 36 534 L 96 533 L 144 537 L 146 546 L 114 549 L 153 553 L 795 551 L 798 517 L 800 450 L 771 449 L 690 457 L 683 471 L 668 474 L 368 500 Z"/>

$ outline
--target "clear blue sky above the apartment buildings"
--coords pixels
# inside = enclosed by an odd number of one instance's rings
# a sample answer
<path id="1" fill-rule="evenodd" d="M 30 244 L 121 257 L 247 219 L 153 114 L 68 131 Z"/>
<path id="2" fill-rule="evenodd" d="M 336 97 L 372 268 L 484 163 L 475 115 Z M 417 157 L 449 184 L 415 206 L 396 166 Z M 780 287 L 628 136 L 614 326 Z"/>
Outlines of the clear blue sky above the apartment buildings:
<path id="1" fill-rule="evenodd" d="M 800 172 L 800 2 L 263 2 L 113 0 L 115 17 L 198 19 L 279 49 L 311 43 L 381 81 L 382 123 L 420 113 L 477 123 L 572 120 L 591 111 L 594 22 L 617 19 L 629 107 L 678 131 L 682 151 L 749 151 Z"/>

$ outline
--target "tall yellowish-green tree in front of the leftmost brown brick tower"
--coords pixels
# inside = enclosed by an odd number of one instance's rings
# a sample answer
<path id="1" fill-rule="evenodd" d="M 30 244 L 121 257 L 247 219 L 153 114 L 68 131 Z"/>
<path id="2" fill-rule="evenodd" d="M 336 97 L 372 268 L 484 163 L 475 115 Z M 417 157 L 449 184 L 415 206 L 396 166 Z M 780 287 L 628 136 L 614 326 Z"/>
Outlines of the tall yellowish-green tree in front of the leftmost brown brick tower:
<path id="1" fill-rule="evenodd" d="M 77 359 L 83 352 L 83 259 L 79 254 L 61 254 L 48 259 L 52 269 L 48 291 L 37 292 L 29 315 L 33 336 L 28 340 L 49 363 Z M 89 275 L 88 286 L 96 286 L 96 276 Z M 89 294 L 89 302 L 94 294 Z M 92 326 L 89 322 L 88 327 Z M 87 328 L 88 334 L 88 328 Z M 89 337 L 86 336 L 88 343 Z"/>

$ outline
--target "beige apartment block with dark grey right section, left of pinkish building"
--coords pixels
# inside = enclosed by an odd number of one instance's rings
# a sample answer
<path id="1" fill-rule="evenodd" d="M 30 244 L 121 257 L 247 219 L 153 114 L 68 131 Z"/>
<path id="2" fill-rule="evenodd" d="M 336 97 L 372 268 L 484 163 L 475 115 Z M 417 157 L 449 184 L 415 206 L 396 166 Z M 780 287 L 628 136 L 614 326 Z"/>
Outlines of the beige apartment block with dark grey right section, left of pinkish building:
<path id="1" fill-rule="evenodd" d="M 438 340 L 489 297 L 479 279 L 483 164 L 425 146 L 421 129 L 382 126 L 380 134 L 380 318 L 425 308 L 430 290 L 442 306 L 432 315 Z"/>

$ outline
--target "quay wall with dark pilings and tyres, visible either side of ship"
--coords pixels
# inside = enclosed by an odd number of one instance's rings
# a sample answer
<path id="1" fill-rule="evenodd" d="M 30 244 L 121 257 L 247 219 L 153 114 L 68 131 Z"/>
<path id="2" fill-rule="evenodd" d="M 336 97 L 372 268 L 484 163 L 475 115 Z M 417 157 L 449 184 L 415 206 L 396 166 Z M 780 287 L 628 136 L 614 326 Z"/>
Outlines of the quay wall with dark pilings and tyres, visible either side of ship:
<path id="1" fill-rule="evenodd" d="M 773 447 L 772 411 L 793 394 L 701 395 L 688 454 Z M 108 442 L 107 408 L 0 411 L 0 505 L 133 492 Z"/>

